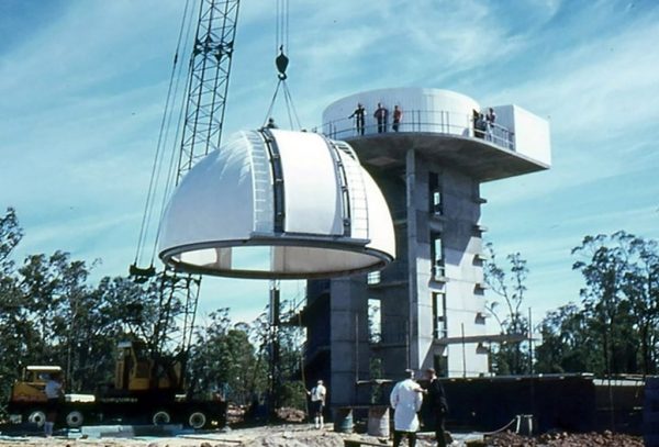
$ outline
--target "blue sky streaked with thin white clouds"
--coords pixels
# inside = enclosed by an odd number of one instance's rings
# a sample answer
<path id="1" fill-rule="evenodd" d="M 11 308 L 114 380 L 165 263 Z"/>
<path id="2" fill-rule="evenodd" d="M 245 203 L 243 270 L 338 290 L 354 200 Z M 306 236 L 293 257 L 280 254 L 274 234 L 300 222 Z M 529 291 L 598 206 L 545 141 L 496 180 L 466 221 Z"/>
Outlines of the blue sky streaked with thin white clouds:
<path id="1" fill-rule="evenodd" d="M 225 135 L 263 124 L 276 2 L 244 0 Z M 528 260 L 534 317 L 579 300 L 570 249 L 617 230 L 659 238 L 659 5 L 654 1 L 290 2 L 289 87 L 302 125 L 342 97 L 435 87 L 549 119 L 552 168 L 488 183 L 482 223 Z M 266 7 L 267 5 L 267 7 Z M 63 249 L 133 261 L 182 1 L 0 1 L 0 206 L 16 259 Z M 208 279 L 202 314 L 249 320 L 267 281 Z M 289 295 L 301 284 L 287 283 Z"/>

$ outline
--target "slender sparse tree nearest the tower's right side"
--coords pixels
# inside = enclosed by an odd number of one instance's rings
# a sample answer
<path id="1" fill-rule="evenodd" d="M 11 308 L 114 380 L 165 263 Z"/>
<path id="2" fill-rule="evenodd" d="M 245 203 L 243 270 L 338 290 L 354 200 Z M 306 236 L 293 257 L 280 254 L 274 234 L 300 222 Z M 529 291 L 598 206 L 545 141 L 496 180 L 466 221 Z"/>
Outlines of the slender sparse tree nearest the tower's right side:
<path id="1" fill-rule="evenodd" d="M 499 302 L 493 301 L 488 310 L 499 322 L 501 333 L 511 337 L 511 343 L 502 343 L 499 349 L 492 353 L 492 369 L 499 375 L 520 375 L 530 372 L 528 365 L 529 353 L 523 351 L 521 339 L 526 339 L 528 333 L 528 319 L 522 315 L 520 309 L 524 302 L 526 292 L 526 278 L 528 267 L 526 260 L 520 253 L 506 256 L 510 262 L 509 271 L 496 264 L 496 253 L 492 243 L 485 245 L 489 254 L 489 260 L 483 267 L 485 282 L 494 293 L 501 297 L 506 306 L 505 317 L 496 313 Z"/>

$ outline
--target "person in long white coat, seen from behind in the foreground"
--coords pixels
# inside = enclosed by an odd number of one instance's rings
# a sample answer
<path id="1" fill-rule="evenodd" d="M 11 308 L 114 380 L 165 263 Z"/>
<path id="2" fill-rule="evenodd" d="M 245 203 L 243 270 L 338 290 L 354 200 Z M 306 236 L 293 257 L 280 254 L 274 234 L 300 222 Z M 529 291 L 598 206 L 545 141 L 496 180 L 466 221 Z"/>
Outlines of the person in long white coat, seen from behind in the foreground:
<path id="1" fill-rule="evenodd" d="M 398 382 L 389 400 L 394 410 L 393 413 L 393 447 L 399 447 L 403 435 L 407 435 L 410 447 L 416 446 L 416 432 L 418 431 L 418 417 L 416 413 L 421 410 L 423 402 L 423 390 L 414 381 L 414 371 L 406 369 L 407 379 Z"/>

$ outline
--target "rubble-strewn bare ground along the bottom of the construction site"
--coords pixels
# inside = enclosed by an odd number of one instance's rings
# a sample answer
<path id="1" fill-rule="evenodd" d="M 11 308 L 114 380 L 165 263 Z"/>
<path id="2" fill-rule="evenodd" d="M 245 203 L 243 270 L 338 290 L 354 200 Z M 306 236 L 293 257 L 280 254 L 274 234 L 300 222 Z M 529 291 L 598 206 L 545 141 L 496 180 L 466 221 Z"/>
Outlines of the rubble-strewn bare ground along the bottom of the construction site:
<path id="1" fill-rule="evenodd" d="M 69 435 L 70 436 L 70 435 Z M 248 428 L 225 429 L 222 432 L 183 434 L 175 437 L 102 437 L 80 438 L 65 435 L 45 438 L 43 436 L 0 436 L 0 446 L 133 446 L 133 447 L 339 447 L 339 446 L 387 446 L 391 439 L 361 434 L 335 433 L 333 428 L 315 429 L 309 424 L 284 424 Z M 406 445 L 403 442 L 403 445 Z M 435 446 L 431 434 L 420 434 L 416 444 L 420 447 Z M 643 439 L 612 433 L 567 434 L 552 433 L 537 437 L 520 436 L 511 432 L 492 436 L 482 434 L 455 434 L 451 446 L 469 447 L 641 447 Z"/>

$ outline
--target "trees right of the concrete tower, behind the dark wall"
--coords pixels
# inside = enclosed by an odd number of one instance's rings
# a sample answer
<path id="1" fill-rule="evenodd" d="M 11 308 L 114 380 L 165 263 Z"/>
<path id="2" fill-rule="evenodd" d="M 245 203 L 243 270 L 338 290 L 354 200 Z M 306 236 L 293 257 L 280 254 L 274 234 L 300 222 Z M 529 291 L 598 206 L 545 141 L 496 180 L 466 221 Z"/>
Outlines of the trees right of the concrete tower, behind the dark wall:
<path id="1" fill-rule="evenodd" d="M 484 266 L 485 280 L 500 301 L 489 310 L 503 334 L 526 335 L 492 350 L 495 373 L 592 372 L 657 375 L 659 370 L 659 244 L 624 231 L 585 236 L 572 249 L 572 269 L 584 284 L 580 301 L 550 311 L 534 331 L 541 343 L 528 337 L 526 298 L 528 267 L 520 253 L 500 262 L 492 244 Z M 499 309 L 505 306 L 505 317 Z M 535 348 L 535 349 L 534 349 Z"/>

